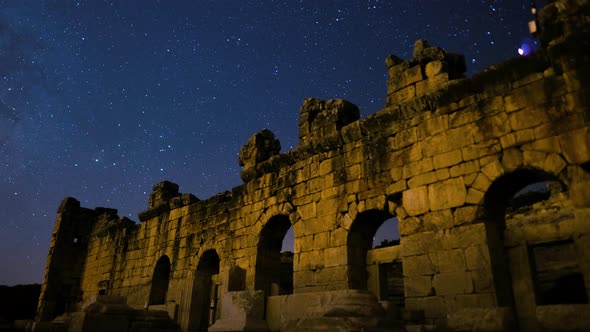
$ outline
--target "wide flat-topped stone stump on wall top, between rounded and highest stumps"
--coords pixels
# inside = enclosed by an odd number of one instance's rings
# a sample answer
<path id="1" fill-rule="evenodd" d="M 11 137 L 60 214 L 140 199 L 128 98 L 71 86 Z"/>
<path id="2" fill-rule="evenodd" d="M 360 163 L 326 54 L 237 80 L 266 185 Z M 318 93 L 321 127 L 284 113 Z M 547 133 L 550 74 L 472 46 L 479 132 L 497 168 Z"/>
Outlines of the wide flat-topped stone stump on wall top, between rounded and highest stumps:
<path id="1" fill-rule="evenodd" d="M 299 145 L 317 144 L 338 135 L 342 127 L 359 118 L 358 107 L 346 100 L 307 98 L 299 115 Z"/>

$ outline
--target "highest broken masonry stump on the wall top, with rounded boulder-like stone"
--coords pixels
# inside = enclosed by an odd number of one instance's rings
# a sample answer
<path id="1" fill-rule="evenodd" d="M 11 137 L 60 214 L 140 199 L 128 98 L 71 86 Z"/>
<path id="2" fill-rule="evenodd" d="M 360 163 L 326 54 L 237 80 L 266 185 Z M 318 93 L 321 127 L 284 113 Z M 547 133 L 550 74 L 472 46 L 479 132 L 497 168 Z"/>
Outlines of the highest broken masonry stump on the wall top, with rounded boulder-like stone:
<path id="1" fill-rule="evenodd" d="M 389 73 L 386 107 L 439 90 L 449 81 L 463 78 L 466 70 L 463 55 L 447 53 L 424 39 L 414 44 L 412 60 L 390 55 L 385 64 Z"/>

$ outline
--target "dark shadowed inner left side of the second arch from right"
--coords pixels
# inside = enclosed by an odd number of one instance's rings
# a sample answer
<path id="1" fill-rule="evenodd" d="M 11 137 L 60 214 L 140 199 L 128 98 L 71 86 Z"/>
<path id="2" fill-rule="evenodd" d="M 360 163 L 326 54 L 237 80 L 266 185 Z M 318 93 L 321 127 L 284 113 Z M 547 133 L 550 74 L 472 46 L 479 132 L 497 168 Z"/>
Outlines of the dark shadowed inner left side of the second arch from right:
<path id="1" fill-rule="evenodd" d="M 392 217 L 389 212 L 374 209 L 359 213 L 352 222 L 346 238 L 348 288 L 367 289 L 367 252 L 381 224 Z"/>

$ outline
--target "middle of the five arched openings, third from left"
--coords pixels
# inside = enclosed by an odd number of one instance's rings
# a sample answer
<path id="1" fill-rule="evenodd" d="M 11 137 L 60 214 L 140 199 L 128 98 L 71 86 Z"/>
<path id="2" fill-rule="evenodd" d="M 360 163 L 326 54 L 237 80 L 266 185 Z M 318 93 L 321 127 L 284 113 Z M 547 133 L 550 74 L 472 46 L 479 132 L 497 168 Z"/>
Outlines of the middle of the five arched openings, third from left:
<path id="1" fill-rule="evenodd" d="M 272 217 L 260 232 L 254 287 L 266 296 L 293 293 L 293 233 L 287 216 Z M 287 237 L 287 234 L 291 234 Z"/>

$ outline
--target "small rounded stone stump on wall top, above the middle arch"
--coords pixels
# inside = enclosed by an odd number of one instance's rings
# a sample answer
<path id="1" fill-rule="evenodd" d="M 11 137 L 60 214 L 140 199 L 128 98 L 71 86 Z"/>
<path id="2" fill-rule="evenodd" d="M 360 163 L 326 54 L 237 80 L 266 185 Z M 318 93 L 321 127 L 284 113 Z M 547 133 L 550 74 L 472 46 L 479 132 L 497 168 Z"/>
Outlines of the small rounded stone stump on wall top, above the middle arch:
<path id="1" fill-rule="evenodd" d="M 244 167 L 240 173 L 242 180 L 248 182 L 256 170 L 256 165 L 278 155 L 280 151 L 281 142 L 270 130 L 263 129 L 252 135 L 240 149 L 240 166 Z"/>

